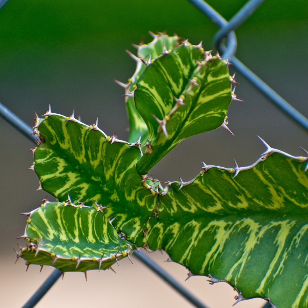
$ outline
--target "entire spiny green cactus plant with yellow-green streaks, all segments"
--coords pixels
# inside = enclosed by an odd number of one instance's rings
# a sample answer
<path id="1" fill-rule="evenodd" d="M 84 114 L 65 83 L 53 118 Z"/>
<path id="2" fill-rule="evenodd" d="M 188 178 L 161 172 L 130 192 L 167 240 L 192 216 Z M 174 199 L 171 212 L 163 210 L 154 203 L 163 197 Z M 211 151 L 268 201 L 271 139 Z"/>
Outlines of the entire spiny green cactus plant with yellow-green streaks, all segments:
<path id="1" fill-rule="evenodd" d="M 160 34 L 139 46 L 145 64 L 136 59 L 124 85 L 129 142 L 74 115 L 49 110 L 36 120 L 31 169 L 59 202 L 26 213 L 29 246 L 17 256 L 65 272 L 107 269 L 135 246 L 164 249 L 189 275 L 236 287 L 238 301 L 261 297 L 277 308 L 307 308 L 307 157 L 261 140 L 266 151 L 247 167 L 203 164 L 191 181 L 165 188 L 146 174 L 181 140 L 226 128 L 236 98 L 228 63 L 176 39 Z"/>

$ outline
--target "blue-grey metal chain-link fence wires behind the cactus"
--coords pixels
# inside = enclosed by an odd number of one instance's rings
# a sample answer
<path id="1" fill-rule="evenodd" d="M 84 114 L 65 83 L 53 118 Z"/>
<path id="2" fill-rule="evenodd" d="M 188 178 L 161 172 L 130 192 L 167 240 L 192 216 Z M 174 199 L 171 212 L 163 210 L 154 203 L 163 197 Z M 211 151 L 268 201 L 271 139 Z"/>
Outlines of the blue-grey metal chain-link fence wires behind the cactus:
<path id="1" fill-rule="evenodd" d="M 8 0 L 0 0 L 0 8 Z M 308 119 L 292 107 L 286 100 L 279 96 L 273 89 L 264 83 L 257 75 L 249 70 L 235 56 L 237 49 L 237 39 L 234 30 L 240 26 L 253 12 L 261 5 L 264 0 L 250 0 L 227 22 L 217 11 L 209 6 L 203 0 L 188 0 L 196 6 L 202 13 L 208 16 L 220 30 L 214 36 L 214 44 L 222 55 L 223 59 L 228 59 L 243 76 L 245 76 L 257 89 L 259 89 L 268 99 L 276 104 L 286 115 L 296 121 L 301 127 L 308 130 Z M 14 113 L 0 103 L 0 115 L 9 122 L 14 128 L 21 132 L 31 141 L 35 141 L 35 136 L 31 135 L 32 129 Z M 159 265 L 153 262 L 144 253 L 134 252 L 134 255 L 143 262 L 149 269 L 159 275 L 165 282 L 174 288 L 179 294 L 186 298 L 192 305 L 199 308 L 206 308 L 193 294 L 175 281 L 168 273 L 166 273 Z M 22 308 L 32 308 L 53 286 L 53 284 L 61 276 L 59 270 L 54 270 L 42 286 L 34 293 L 34 295 L 25 303 Z M 270 303 L 266 303 L 263 308 L 270 308 Z"/>

